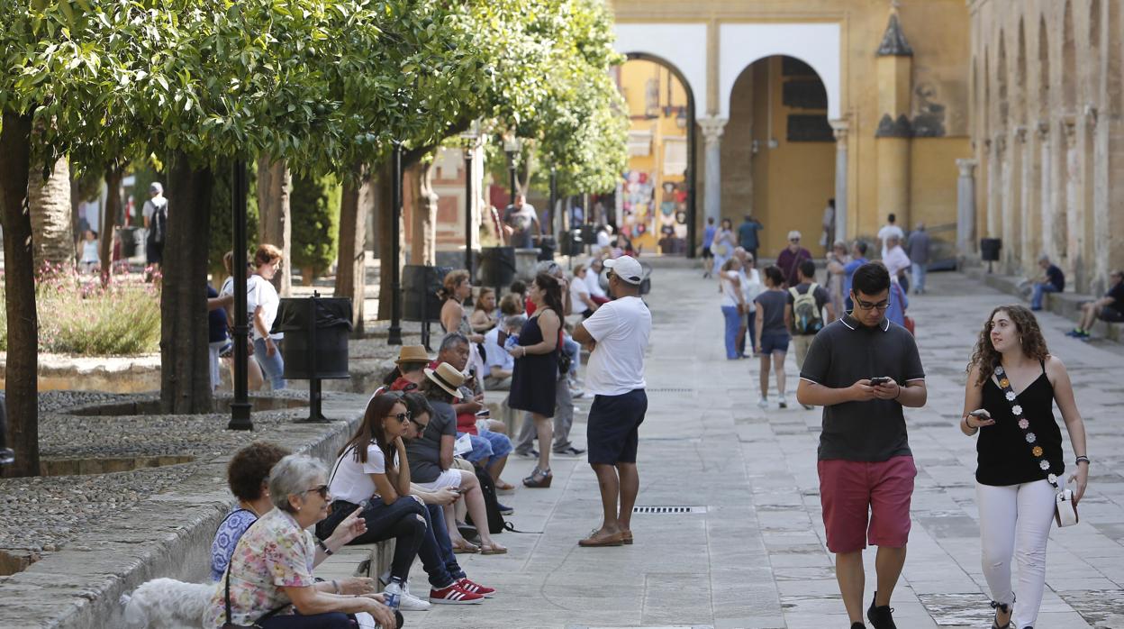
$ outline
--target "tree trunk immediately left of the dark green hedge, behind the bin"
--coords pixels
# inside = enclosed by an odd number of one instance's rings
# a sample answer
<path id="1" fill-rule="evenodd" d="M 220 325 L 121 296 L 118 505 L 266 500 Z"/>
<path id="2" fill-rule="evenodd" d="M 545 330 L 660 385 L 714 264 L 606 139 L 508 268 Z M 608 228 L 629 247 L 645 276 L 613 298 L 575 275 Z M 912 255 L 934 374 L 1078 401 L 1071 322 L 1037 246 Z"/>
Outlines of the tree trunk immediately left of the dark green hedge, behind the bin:
<path id="1" fill-rule="evenodd" d="M 289 192 L 292 173 L 284 160 L 268 156 L 257 160 L 257 242 L 281 249 L 281 268 L 273 276 L 278 294 L 292 294 L 292 221 Z"/>

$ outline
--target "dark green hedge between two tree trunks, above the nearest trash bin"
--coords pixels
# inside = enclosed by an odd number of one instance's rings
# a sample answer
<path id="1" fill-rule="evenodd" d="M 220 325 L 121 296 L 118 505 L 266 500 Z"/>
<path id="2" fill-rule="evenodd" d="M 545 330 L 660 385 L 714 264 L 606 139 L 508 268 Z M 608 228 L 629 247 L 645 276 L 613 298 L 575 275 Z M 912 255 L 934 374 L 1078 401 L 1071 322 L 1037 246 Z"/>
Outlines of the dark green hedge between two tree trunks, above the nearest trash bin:
<path id="1" fill-rule="evenodd" d="M 339 181 L 330 174 L 319 178 L 293 176 L 289 197 L 293 269 L 311 269 L 316 277 L 335 262 L 342 195 Z"/>

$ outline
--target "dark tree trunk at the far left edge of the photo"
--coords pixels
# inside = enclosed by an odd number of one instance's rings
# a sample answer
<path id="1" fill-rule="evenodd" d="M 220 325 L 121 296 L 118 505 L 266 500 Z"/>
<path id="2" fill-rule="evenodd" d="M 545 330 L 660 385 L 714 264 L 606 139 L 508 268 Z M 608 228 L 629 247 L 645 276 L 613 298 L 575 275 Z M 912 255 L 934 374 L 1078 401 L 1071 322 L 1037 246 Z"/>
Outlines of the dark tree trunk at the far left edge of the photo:
<path id="1" fill-rule="evenodd" d="M 0 203 L 3 217 L 4 307 L 8 315 L 8 446 L 10 476 L 39 474 L 39 332 L 35 305 L 35 258 L 27 209 L 31 114 L 3 114 L 0 127 Z M 70 181 L 66 182 L 67 187 Z M 67 225 L 69 227 L 69 225 Z"/>

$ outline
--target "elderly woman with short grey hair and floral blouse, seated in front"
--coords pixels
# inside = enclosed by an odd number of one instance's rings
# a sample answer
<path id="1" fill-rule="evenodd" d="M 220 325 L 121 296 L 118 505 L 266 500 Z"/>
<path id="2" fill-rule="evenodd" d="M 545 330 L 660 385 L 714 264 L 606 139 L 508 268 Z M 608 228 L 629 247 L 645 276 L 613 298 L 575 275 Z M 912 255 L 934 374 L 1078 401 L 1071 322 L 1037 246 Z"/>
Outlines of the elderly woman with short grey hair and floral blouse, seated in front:
<path id="1" fill-rule="evenodd" d="M 205 626 L 350 629 L 347 614 L 368 612 L 380 627 L 397 627 L 380 594 L 342 594 L 336 582 L 312 578 L 312 567 L 337 550 L 316 541 L 308 530 L 328 515 L 324 464 L 305 455 L 284 457 L 270 473 L 269 494 L 274 509 L 238 540 L 216 584 Z M 356 514 L 357 510 L 341 524 L 347 531 L 344 542 L 366 528 Z"/>

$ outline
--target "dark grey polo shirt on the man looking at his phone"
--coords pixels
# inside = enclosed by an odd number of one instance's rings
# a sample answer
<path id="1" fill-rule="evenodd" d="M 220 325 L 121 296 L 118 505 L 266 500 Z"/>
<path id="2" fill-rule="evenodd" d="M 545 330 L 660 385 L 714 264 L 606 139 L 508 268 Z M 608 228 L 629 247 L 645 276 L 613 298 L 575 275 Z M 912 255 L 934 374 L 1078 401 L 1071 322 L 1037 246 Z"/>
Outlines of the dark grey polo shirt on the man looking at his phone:
<path id="1" fill-rule="evenodd" d="M 867 327 L 850 313 L 816 334 L 800 370 L 800 379 L 831 388 L 874 376 L 889 376 L 899 385 L 924 380 L 917 343 L 889 320 Z M 871 399 L 824 406 L 819 460 L 885 461 L 910 453 L 901 404 Z"/>

